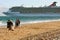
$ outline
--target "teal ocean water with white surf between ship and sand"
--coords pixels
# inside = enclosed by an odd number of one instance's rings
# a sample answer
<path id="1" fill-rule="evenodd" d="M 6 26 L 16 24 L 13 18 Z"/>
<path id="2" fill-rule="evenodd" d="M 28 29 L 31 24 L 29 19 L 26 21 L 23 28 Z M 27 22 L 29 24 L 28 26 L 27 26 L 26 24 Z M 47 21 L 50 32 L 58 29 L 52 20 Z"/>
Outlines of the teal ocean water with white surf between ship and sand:
<path id="1" fill-rule="evenodd" d="M 21 21 L 21 24 L 60 21 L 60 16 L 0 16 L 0 26 L 7 25 L 8 20 L 12 20 L 15 24 L 16 19 Z"/>

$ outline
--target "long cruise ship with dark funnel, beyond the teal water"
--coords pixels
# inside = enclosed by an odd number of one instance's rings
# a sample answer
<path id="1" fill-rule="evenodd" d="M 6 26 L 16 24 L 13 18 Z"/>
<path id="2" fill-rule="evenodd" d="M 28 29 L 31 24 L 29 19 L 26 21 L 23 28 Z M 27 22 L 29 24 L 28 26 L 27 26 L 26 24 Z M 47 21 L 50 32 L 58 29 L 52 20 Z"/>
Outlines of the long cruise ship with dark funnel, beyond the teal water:
<path id="1" fill-rule="evenodd" d="M 57 7 L 56 3 L 53 2 L 47 7 L 12 7 L 3 13 L 8 16 L 60 16 L 60 7 Z"/>

